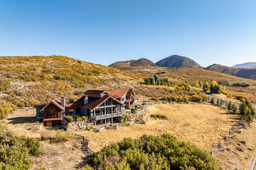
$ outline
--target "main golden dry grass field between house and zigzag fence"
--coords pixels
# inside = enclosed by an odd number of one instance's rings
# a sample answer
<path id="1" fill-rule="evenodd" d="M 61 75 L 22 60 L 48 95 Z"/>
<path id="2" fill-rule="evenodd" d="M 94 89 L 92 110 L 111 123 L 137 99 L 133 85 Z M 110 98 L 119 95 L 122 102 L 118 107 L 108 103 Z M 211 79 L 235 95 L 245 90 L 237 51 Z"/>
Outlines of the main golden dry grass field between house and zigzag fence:
<path id="1" fill-rule="evenodd" d="M 111 142 L 119 142 L 124 137 L 137 139 L 144 133 L 161 135 L 170 133 L 180 141 L 186 141 L 198 147 L 211 150 L 219 143 L 230 128 L 238 122 L 236 115 L 228 115 L 226 111 L 211 105 L 189 104 L 156 104 L 148 106 L 147 115 L 161 114 L 168 117 L 167 121 L 148 118 L 146 125 L 134 124 L 129 127 L 119 126 L 118 130 L 104 130 L 100 133 L 92 131 L 76 132 L 90 140 L 90 147 L 98 152 Z"/>

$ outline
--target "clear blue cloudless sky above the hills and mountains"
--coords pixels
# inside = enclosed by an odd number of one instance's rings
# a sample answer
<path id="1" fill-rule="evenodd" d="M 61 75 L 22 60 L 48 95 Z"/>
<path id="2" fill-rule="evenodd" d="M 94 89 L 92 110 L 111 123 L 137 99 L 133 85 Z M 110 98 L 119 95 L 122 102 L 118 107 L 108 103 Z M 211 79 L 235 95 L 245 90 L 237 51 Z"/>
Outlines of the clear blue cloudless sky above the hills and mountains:
<path id="1" fill-rule="evenodd" d="M 0 0 L 0 56 L 256 62 L 256 0 Z"/>

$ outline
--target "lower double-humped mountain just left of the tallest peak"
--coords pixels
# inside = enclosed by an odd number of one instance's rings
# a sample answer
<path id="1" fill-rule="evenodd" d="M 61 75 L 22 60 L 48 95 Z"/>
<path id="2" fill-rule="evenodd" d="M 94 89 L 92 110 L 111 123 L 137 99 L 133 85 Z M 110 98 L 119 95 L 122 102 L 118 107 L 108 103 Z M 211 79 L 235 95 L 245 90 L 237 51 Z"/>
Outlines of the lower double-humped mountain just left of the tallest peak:
<path id="1" fill-rule="evenodd" d="M 118 61 L 113 64 L 110 64 L 109 66 L 123 70 L 128 70 L 136 69 L 134 67 L 155 67 L 156 64 L 154 64 L 154 62 L 148 60 L 147 58 L 140 58 L 138 60 Z"/>

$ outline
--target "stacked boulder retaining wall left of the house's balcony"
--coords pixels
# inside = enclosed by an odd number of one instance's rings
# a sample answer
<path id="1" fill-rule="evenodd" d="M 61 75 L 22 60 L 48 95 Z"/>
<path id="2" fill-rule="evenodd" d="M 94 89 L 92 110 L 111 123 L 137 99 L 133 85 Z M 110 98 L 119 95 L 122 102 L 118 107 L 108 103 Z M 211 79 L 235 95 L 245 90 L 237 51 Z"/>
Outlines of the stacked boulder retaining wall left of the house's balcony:
<path id="1" fill-rule="evenodd" d="M 81 121 L 74 121 L 74 122 L 68 122 L 66 120 L 62 121 L 63 127 L 67 131 L 72 130 L 89 130 L 91 126 L 93 126 L 92 123 L 88 123 L 87 121 L 81 120 Z"/>

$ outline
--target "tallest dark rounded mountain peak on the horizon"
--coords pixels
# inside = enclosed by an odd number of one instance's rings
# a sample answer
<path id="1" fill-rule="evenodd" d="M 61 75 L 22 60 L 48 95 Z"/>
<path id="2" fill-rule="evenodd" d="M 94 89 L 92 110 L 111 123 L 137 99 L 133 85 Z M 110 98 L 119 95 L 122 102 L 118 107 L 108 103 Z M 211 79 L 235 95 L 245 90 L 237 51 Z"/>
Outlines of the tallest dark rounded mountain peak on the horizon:
<path id="1" fill-rule="evenodd" d="M 199 64 L 197 64 L 194 60 L 190 58 L 180 56 L 180 55 L 171 55 L 167 58 L 163 58 L 162 60 L 155 63 L 160 67 L 187 67 L 187 68 L 202 68 Z"/>

